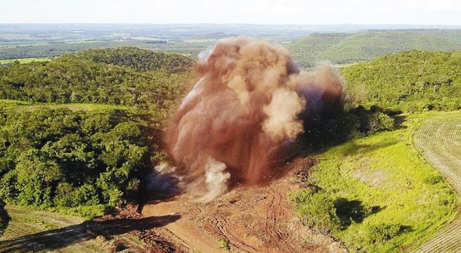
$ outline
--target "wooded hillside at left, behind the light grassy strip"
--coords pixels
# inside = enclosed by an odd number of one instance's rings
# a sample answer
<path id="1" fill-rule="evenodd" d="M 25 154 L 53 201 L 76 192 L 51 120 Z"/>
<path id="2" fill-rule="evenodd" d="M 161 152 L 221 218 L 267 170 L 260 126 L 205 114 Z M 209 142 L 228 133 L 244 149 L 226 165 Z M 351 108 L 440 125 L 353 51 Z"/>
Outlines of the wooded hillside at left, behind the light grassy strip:
<path id="1" fill-rule="evenodd" d="M 137 48 L 92 49 L 50 62 L 0 67 L 0 98 L 164 109 L 187 82 L 191 60 Z"/>

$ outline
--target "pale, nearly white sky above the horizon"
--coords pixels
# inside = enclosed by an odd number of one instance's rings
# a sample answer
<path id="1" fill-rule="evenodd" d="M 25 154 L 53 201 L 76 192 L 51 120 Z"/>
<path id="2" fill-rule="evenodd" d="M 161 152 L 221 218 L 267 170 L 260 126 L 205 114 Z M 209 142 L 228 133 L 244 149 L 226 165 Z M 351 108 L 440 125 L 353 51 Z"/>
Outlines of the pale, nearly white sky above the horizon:
<path id="1" fill-rule="evenodd" d="M 0 23 L 461 25 L 461 0 L 0 0 Z"/>

